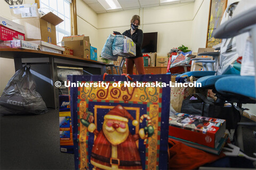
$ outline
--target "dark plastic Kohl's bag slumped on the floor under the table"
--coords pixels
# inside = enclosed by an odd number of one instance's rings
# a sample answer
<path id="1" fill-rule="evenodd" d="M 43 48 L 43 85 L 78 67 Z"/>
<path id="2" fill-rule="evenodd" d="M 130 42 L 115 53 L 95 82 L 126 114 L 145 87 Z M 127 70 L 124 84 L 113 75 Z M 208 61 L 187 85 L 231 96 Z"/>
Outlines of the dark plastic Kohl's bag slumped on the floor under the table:
<path id="1" fill-rule="evenodd" d="M 44 114 L 48 112 L 41 95 L 36 92 L 36 83 L 26 65 L 18 70 L 7 83 L 0 98 L 2 115 Z"/>

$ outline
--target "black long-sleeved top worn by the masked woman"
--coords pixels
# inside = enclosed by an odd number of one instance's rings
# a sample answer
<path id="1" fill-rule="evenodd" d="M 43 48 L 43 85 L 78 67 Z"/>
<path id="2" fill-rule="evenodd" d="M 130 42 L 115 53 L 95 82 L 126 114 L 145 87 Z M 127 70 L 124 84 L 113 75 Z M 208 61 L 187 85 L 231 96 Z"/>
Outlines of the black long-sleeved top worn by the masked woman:
<path id="1" fill-rule="evenodd" d="M 133 40 L 133 42 L 136 44 L 136 56 L 134 57 L 127 57 L 127 58 L 137 58 L 137 57 L 143 57 L 141 53 L 141 45 L 143 41 L 143 31 L 140 29 L 137 29 L 132 35 L 131 35 L 131 29 L 124 31 L 124 36 L 129 37 Z"/>

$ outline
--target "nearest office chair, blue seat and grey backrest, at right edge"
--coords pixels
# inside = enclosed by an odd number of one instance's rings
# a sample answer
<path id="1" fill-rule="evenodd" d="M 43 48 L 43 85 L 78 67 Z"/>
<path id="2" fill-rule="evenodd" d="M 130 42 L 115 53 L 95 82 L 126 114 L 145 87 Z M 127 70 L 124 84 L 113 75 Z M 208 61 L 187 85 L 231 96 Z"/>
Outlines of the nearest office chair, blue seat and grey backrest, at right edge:
<path id="1" fill-rule="evenodd" d="M 243 13 L 234 16 L 229 21 L 220 25 L 215 30 L 215 38 L 230 38 L 249 32 L 252 37 L 254 64 L 256 63 L 256 7 L 251 8 Z M 254 65 L 256 66 L 256 64 Z M 256 73 L 256 70 L 254 70 Z M 256 75 L 256 74 L 255 74 Z M 222 99 L 228 102 L 239 103 L 256 103 L 255 77 L 230 75 L 223 77 L 215 82 L 215 90 L 220 94 Z M 243 150 L 242 126 L 256 126 L 255 123 L 238 123 L 237 126 L 237 145 Z"/>

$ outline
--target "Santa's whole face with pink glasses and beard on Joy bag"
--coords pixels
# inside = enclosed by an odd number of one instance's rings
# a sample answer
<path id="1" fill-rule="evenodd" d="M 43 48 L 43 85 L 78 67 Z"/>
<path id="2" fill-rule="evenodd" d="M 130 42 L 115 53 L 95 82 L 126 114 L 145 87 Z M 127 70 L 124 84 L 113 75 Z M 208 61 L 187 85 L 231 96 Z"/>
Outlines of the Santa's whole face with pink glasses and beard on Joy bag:
<path id="1" fill-rule="evenodd" d="M 126 122 L 106 119 L 102 126 L 103 133 L 112 145 L 119 145 L 129 135 L 129 127 Z"/>

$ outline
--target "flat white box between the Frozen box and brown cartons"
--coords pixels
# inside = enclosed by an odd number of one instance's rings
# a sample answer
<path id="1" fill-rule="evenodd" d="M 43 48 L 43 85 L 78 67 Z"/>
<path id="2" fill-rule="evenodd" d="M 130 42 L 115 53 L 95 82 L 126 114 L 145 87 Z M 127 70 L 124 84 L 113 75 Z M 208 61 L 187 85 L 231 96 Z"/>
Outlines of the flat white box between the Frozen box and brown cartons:
<path id="1" fill-rule="evenodd" d="M 65 50 L 65 48 L 63 47 L 46 43 L 45 41 L 41 41 L 41 40 L 29 41 L 29 42 L 41 45 L 41 50 L 43 52 L 62 54 L 62 51 Z"/>

